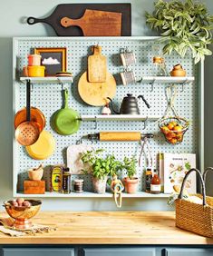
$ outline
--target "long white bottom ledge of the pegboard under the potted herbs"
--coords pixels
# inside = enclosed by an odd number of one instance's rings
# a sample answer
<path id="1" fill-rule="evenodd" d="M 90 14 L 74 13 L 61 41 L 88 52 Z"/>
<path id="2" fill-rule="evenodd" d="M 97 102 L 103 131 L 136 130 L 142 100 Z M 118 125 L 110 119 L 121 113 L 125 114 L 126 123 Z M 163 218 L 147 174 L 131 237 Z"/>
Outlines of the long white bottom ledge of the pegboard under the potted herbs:
<path id="1" fill-rule="evenodd" d="M 82 192 L 76 193 L 71 192 L 68 194 L 60 193 L 60 192 L 45 192 L 44 194 L 24 194 L 24 193 L 15 193 L 15 197 L 22 198 L 112 198 L 111 192 L 105 193 L 94 193 L 94 192 Z M 123 198 L 169 198 L 169 194 L 160 193 L 153 194 L 148 192 L 137 192 L 137 193 L 122 193 Z"/>

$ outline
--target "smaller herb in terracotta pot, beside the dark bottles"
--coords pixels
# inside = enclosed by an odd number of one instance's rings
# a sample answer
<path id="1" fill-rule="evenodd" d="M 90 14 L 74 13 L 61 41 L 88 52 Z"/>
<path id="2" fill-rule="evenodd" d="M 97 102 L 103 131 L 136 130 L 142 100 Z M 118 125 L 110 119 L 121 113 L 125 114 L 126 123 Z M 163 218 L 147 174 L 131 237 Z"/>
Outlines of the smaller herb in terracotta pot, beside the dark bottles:
<path id="1" fill-rule="evenodd" d="M 136 175 L 136 156 L 132 155 L 131 158 L 124 157 L 122 168 L 126 171 L 127 177 L 123 179 L 125 191 L 128 193 L 135 193 L 138 189 L 139 179 Z"/>

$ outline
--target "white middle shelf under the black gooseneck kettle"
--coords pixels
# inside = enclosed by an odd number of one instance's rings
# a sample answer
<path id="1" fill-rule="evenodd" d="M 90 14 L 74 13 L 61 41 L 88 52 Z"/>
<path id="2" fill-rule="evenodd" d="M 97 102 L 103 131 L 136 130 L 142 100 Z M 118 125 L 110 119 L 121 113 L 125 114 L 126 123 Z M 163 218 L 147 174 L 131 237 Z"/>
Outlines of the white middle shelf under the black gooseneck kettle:
<path id="1" fill-rule="evenodd" d="M 82 121 L 157 121 L 160 116 L 144 116 L 140 114 L 87 114 L 81 116 Z"/>

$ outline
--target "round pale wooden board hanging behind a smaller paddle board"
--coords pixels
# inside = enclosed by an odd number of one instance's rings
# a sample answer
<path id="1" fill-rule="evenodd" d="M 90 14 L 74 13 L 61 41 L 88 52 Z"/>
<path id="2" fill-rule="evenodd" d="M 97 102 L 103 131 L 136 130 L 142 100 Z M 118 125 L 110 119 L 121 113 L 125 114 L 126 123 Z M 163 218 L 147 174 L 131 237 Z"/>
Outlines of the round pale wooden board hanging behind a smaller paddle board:
<path id="1" fill-rule="evenodd" d="M 83 102 L 92 106 L 105 105 L 107 97 L 113 98 L 116 94 L 116 81 L 113 75 L 107 72 L 106 82 L 89 83 L 87 80 L 87 72 L 84 72 L 79 79 L 78 92 Z"/>

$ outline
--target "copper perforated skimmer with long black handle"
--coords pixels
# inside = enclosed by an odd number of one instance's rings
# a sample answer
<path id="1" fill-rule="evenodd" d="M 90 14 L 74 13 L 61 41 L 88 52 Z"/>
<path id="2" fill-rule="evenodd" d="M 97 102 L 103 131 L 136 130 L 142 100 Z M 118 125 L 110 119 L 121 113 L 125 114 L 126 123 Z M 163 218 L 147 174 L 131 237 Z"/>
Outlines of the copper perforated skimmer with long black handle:
<path id="1" fill-rule="evenodd" d="M 15 130 L 15 139 L 18 143 L 24 146 L 34 144 L 40 135 L 39 125 L 31 121 L 30 107 L 30 81 L 26 84 L 26 122 L 20 123 Z"/>

